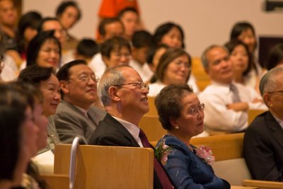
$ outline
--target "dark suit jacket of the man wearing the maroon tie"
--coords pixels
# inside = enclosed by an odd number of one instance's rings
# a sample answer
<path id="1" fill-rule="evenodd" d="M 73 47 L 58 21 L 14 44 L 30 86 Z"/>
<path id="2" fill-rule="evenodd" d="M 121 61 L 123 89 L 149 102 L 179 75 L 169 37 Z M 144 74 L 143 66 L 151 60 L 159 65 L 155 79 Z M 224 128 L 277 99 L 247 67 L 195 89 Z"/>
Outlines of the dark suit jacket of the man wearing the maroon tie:
<path id="1" fill-rule="evenodd" d="M 139 147 L 132 134 L 115 118 L 106 114 L 91 135 L 88 144 L 101 146 Z M 171 182 L 173 183 L 173 182 Z M 162 188 L 156 172 L 154 171 L 154 188 Z"/>

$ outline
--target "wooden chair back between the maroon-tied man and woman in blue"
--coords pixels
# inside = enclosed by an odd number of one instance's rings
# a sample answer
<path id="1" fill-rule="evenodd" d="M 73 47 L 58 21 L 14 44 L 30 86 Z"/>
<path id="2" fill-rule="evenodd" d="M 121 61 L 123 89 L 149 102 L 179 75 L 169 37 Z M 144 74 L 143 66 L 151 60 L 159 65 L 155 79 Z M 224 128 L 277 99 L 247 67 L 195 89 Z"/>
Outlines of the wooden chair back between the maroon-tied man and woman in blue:
<path id="1" fill-rule="evenodd" d="M 146 133 L 149 141 L 158 141 L 167 132 L 156 115 L 144 115 L 139 122 L 139 127 Z"/>

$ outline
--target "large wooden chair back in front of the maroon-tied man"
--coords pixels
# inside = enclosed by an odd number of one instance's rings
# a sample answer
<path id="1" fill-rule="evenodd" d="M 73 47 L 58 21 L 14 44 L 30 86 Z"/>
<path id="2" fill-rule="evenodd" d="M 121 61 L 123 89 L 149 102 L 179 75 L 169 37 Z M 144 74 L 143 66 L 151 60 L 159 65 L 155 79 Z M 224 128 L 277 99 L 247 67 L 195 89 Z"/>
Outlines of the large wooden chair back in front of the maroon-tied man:
<path id="1" fill-rule="evenodd" d="M 70 151 L 71 144 L 55 147 L 55 173 L 67 173 Z M 77 149 L 74 188 L 153 188 L 153 178 L 153 149 L 90 145 Z"/>

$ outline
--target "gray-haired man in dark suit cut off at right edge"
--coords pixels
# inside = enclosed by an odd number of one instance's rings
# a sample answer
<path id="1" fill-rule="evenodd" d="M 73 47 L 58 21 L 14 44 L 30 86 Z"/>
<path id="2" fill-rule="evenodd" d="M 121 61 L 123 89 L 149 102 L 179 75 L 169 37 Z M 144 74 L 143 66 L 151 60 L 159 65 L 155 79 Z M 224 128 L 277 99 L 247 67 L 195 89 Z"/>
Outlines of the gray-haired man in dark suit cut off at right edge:
<path id="1" fill-rule="evenodd" d="M 271 69 L 260 80 L 269 111 L 258 115 L 245 132 L 243 155 L 256 180 L 283 181 L 283 68 Z"/>

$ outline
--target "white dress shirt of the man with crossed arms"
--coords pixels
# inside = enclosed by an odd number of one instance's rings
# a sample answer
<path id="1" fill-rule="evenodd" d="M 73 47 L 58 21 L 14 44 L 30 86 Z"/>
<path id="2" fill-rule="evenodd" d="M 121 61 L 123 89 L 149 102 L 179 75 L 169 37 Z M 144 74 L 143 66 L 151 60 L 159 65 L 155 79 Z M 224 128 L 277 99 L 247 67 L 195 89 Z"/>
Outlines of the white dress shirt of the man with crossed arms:
<path id="1" fill-rule="evenodd" d="M 242 102 L 246 102 L 250 109 L 267 110 L 264 103 L 253 103 L 255 98 L 261 99 L 261 96 L 255 89 L 233 83 L 239 92 Z M 226 105 L 233 103 L 233 92 L 230 91 L 229 84 L 211 85 L 202 91 L 199 95 L 200 102 L 205 104 L 204 125 L 208 130 L 241 132 L 248 127 L 248 113 L 228 109 Z"/>

